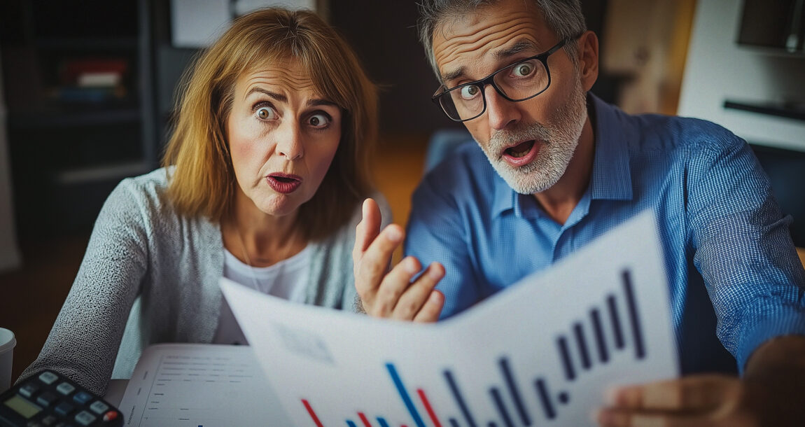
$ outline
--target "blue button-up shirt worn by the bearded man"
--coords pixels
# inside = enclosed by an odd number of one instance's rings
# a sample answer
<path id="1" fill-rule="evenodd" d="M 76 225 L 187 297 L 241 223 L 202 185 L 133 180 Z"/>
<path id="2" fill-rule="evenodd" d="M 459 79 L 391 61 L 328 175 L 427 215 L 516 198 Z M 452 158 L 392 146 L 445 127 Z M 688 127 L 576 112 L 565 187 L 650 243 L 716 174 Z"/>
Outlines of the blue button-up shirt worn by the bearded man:
<path id="1" fill-rule="evenodd" d="M 444 264 L 442 317 L 654 209 L 683 373 L 734 371 L 735 359 L 742 369 L 767 339 L 805 334 L 805 272 L 791 217 L 780 213 L 745 141 L 711 122 L 632 116 L 590 99 L 592 176 L 564 224 L 535 197 L 515 193 L 475 143 L 425 176 L 406 254 Z"/>

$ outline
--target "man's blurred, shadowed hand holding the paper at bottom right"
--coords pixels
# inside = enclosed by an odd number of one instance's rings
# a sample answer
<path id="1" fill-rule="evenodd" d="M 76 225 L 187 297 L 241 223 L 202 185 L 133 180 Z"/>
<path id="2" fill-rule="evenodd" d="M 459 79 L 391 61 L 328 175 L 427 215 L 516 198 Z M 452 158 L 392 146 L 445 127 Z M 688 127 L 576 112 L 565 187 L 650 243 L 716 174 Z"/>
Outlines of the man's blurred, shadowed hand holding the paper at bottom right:
<path id="1" fill-rule="evenodd" d="M 691 375 L 619 388 L 597 414 L 604 426 L 805 425 L 805 337 L 775 338 L 755 350 L 744 377 Z"/>

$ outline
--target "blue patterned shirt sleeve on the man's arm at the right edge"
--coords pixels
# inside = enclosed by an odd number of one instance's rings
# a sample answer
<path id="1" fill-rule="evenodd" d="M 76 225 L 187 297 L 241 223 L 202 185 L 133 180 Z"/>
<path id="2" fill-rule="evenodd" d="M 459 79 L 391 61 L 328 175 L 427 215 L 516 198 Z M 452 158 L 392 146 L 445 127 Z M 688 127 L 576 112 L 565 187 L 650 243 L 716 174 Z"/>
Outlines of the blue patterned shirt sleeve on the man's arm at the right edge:
<path id="1" fill-rule="evenodd" d="M 770 338 L 805 334 L 805 272 L 770 183 L 729 131 L 690 147 L 688 240 L 718 318 L 716 334 L 742 372 Z"/>

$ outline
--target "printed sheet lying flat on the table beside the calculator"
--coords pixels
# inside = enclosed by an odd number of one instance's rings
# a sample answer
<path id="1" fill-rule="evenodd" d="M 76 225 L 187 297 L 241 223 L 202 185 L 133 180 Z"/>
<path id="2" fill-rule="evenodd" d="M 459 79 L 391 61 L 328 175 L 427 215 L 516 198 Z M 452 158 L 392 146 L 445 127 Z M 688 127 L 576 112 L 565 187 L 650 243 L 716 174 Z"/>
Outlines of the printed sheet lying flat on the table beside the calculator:
<path id="1" fill-rule="evenodd" d="M 118 409 L 126 426 L 293 425 L 249 346 L 150 346 Z"/>

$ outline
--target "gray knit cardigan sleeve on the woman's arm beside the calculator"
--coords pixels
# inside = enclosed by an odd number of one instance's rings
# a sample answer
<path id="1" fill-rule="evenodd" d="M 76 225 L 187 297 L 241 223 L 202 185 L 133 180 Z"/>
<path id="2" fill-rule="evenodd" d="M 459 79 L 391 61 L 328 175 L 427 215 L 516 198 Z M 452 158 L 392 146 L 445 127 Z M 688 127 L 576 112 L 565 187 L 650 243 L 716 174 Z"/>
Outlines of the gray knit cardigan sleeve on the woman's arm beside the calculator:
<path id="1" fill-rule="evenodd" d="M 92 392 L 105 392 L 147 272 L 149 216 L 145 197 L 133 181 L 118 184 L 101 208 L 56 323 L 20 380 L 51 369 Z"/>

